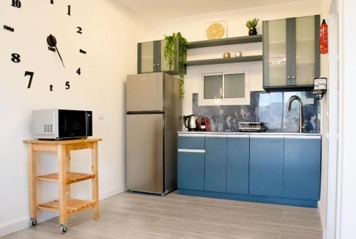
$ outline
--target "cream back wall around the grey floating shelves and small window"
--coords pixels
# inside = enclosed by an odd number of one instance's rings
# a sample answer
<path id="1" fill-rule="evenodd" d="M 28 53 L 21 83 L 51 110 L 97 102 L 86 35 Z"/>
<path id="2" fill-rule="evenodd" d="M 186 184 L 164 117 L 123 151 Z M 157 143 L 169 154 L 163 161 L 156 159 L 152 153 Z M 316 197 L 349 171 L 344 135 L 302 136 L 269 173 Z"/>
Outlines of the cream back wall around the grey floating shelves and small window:
<path id="1" fill-rule="evenodd" d="M 311 16 L 320 14 L 320 5 L 318 0 L 298 1 L 289 4 L 278 4 L 272 6 L 259 6 L 248 9 L 238 9 L 231 11 L 217 12 L 213 14 L 203 14 L 176 18 L 168 21 L 159 21 L 150 23 L 147 34 L 147 41 L 163 38 L 163 35 L 170 35 L 175 31 L 180 31 L 188 41 L 204 40 L 205 23 L 211 21 L 228 21 L 228 37 L 246 36 L 248 29 L 245 26 L 249 18 L 259 18 L 257 31 L 262 33 L 263 20 L 272 20 L 278 18 Z M 188 60 L 197 60 L 205 58 L 221 58 L 224 52 L 234 53 L 242 51 L 244 55 L 254 55 L 262 53 L 261 43 L 245 44 L 240 46 L 221 46 L 188 51 Z M 251 68 L 251 90 L 263 90 L 262 88 L 262 62 L 256 63 L 234 63 L 229 65 L 216 65 L 216 68 L 236 68 L 247 66 Z M 187 69 L 186 75 L 186 95 L 183 101 L 183 114 L 192 113 L 192 93 L 199 92 L 201 75 L 199 72 L 211 66 L 194 66 Z"/>

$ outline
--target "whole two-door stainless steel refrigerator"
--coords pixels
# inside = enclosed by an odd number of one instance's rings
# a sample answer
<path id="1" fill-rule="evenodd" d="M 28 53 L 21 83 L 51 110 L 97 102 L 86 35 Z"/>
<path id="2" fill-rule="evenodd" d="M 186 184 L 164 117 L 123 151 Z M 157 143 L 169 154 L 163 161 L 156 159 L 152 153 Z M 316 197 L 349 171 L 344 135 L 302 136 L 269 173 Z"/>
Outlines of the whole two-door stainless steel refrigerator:
<path id="1" fill-rule="evenodd" d="M 179 81 L 166 73 L 128 75 L 127 189 L 166 194 L 177 189 L 177 131 L 182 125 Z"/>

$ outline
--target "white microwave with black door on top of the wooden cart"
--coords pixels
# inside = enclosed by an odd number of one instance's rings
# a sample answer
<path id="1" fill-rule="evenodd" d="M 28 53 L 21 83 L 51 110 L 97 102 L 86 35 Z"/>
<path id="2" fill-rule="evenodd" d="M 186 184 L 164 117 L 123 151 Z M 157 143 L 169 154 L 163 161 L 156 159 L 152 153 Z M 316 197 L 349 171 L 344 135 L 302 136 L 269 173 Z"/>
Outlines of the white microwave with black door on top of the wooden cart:
<path id="1" fill-rule="evenodd" d="M 85 139 L 93 136 L 93 113 L 85 110 L 33 110 L 35 139 Z"/>

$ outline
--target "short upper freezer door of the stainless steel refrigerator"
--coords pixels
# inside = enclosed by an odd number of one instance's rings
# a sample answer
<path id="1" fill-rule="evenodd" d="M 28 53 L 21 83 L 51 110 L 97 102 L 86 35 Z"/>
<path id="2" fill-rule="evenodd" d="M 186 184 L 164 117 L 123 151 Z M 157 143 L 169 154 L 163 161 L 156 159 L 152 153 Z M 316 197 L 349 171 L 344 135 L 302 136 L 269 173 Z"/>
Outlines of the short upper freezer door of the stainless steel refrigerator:
<path id="1" fill-rule="evenodd" d="M 163 73 L 127 76 L 126 110 L 128 112 L 162 111 Z"/>

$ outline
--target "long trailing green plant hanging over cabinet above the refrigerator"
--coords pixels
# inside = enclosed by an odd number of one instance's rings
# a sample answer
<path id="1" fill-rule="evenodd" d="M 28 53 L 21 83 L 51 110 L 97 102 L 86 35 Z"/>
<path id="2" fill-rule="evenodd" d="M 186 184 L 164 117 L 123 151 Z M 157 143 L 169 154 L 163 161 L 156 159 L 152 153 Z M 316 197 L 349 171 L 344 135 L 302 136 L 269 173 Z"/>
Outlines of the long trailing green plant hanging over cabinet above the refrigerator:
<path id="1" fill-rule="evenodd" d="M 174 59 L 177 58 L 178 42 L 178 72 L 179 72 L 179 97 L 184 98 L 184 74 L 185 64 L 187 63 L 187 44 L 188 41 L 180 32 L 173 33 L 172 36 L 164 36 L 166 45 L 164 46 L 164 58 L 166 58 L 169 70 L 172 70 Z"/>

